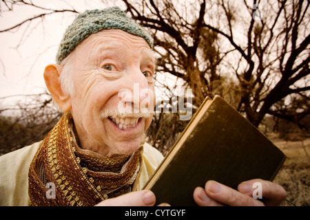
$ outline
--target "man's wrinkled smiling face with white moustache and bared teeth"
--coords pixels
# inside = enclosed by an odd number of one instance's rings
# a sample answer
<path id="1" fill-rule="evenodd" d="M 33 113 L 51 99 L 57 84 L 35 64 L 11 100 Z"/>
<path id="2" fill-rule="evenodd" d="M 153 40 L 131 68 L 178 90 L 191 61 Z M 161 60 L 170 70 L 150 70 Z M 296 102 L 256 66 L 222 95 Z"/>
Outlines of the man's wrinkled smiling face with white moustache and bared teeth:
<path id="1" fill-rule="evenodd" d="M 146 100 L 147 107 L 155 104 L 155 62 L 147 42 L 103 30 L 76 47 L 68 62 L 74 86 L 68 102 L 81 148 L 108 157 L 136 151 L 152 122 L 152 113 L 137 109 Z"/>

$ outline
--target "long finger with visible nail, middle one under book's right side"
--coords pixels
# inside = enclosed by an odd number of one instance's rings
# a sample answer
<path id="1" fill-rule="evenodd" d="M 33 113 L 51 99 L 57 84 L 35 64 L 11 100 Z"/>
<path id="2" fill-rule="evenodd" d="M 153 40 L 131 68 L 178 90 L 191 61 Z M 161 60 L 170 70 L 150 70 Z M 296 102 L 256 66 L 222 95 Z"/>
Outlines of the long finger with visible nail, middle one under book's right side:
<path id="1" fill-rule="evenodd" d="M 216 181 L 207 181 L 205 192 L 211 199 L 227 206 L 264 206 L 261 201 Z"/>

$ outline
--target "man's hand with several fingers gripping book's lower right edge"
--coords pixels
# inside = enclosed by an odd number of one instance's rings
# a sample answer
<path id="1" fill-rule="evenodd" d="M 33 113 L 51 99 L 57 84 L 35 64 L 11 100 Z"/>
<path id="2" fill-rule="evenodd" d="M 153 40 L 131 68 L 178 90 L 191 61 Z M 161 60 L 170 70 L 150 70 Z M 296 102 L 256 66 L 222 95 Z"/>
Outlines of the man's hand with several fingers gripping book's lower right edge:
<path id="1" fill-rule="evenodd" d="M 255 182 L 262 184 L 263 202 L 252 197 Z M 194 200 L 199 206 L 278 206 L 285 197 L 282 186 L 262 179 L 244 181 L 238 191 L 216 181 L 207 181 L 205 188 L 194 190 Z"/>

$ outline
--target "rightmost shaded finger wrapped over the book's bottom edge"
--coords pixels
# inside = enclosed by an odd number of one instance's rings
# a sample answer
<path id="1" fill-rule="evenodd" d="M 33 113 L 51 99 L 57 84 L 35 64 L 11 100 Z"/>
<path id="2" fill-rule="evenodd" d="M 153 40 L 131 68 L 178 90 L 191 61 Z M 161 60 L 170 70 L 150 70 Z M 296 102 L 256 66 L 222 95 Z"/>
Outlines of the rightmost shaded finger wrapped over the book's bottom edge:
<path id="1" fill-rule="evenodd" d="M 253 197 L 253 192 L 257 187 L 261 187 L 265 206 L 278 206 L 287 196 L 287 192 L 282 186 L 263 179 L 244 181 L 239 184 L 238 191 Z"/>

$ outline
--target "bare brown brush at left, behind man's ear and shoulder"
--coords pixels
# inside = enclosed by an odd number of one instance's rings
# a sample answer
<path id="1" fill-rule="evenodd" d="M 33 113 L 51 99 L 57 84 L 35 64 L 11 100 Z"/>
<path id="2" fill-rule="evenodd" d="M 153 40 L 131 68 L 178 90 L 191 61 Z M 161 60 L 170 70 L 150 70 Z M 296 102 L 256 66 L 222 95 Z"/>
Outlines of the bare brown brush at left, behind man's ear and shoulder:
<path id="1" fill-rule="evenodd" d="M 43 140 L 62 115 L 48 93 L 19 96 L 23 102 L 0 105 L 0 155 Z"/>

